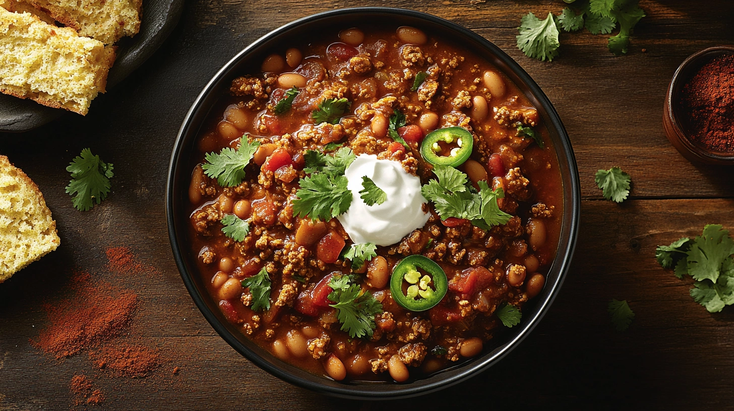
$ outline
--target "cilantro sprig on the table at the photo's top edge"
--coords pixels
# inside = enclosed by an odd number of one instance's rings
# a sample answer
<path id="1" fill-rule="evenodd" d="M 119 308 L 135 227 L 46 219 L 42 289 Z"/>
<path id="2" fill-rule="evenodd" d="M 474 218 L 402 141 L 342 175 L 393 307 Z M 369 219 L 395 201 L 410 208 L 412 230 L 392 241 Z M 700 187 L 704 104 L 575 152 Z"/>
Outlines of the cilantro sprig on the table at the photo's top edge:
<path id="1" fill-rule="evenodd" d="M 556 18 L 548 14 L 540 21 L 533 13 L 524 16 L 518 28 L 517 47 L 526 56 L 539 60 L 558 55 L 558 30 L 578 32 L 586 27 L 592 34 L 610 34 L 619 25 L 619 33 L 609 38 L 607 47 L 619 56 L 626 54 L 634 26 L 645 14 L 639 0 L 564 0 L 571 4 Z"/>

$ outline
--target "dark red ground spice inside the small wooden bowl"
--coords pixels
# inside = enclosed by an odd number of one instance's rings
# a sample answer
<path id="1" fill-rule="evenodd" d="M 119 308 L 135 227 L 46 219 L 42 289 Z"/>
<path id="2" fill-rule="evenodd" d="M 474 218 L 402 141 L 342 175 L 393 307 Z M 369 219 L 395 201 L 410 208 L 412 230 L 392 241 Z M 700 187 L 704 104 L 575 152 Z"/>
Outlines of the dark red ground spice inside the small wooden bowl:
<path id="1" fill-rule="evenodd" d="M 682 104 L 694 142 L 734 152 L 734 55 L 704 65 L 683 87 Z"/>

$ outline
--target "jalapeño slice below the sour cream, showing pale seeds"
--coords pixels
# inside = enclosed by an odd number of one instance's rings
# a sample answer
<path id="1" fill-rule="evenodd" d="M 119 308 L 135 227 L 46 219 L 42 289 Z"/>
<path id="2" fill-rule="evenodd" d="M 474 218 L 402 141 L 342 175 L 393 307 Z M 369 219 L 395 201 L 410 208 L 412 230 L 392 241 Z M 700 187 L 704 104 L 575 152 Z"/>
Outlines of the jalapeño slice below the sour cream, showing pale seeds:
<path id="1" fill-rule="evenodd" d="M 418 271 L 423 270 L 426 274 Z M 403 291 L 407 283 L 407 291 Z M 408 255 L 393 269 L 390 292 L 402 308 L 425 311 L 437 305 L 448 291 L 448 280 L 437 263 L 423 255 Z"/>

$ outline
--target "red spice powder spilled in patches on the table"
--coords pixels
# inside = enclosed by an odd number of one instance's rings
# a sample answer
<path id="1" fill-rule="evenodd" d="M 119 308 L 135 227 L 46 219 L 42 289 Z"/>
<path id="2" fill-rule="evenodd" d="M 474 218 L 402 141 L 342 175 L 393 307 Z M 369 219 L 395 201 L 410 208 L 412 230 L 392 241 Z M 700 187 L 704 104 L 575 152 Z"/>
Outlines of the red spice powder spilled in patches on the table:
<path id="1" fill-rule="evenodd" d="M 106 269 L 116 277 L 156 272 L 126 247 L 111 247 L 106 255 Z M 129 329 L 139 297 L 120 283 L 124 281 L 111 284 L 87 272 L 74 272 L 65 287 L 65 297 L 43 305 L 48 324 L 31 344 L 59 360 L 89 350 L 92 366 L 110 377 L 147 377 L 161 365 L 161 355 L 158 349 L 134 343 L 136 336 Z M 101 404 L 105 400 L 92 382 L 83 374 L 71 379 L 74 405 Z"/>

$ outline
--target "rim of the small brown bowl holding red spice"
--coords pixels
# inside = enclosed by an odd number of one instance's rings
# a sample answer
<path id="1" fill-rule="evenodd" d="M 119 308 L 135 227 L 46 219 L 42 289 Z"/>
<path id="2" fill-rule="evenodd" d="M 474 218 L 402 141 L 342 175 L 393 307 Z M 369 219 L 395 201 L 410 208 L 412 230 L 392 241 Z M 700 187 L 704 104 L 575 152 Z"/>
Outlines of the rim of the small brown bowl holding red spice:
<path id="1" fill-rule="evenodd" d="M 734 55 L 734 46 L 722 44 L 719 46 L 707 47 L 703 50 L 695 52 L 694 54 L 691 54 L 690 56 L 686 57 L 683 62 L 680 63 L 678 68 L 675 70 L 675 73 L 673 73 L 672 79 L 670 79 L 670 83 L 668 84 L 668 91 L 666 92 L 665 96 L 665 115 L 669 119 L 669 126 L 672 128 L 672 131 L 675 132 L 676 137 L 678 137 L 681 144 L 684 148 L 686 148 L 686 150 L 691 152 L 694 156 L 699 157 L 701 161 L 713 161 L 717 164 L 727 164 L 734 163 L 734 153 L 731 153 L 730 155 L 722 155 L 720 153 L 705 150 L 704 148 L 696 145 L 696 143 L 691 140 L 691 134 L 689 134 L 686 131 L 686 128 L 682 126 L 680 119 L 678 118 L 678 113 L 675 110 L 675 108 L 677 108 L 678 106 L 677 103 L 675 103 L 675 98 L 680 97 L 680 93 L 675 93 L 675 90 L 677 84 L 679 84 L 681 81 L 687 81 L 688 79 L 690 79 L 690 76 L 686 76 L 686 78 L 683 78 L 684 75 L 690 74 L 688 73 L 688 69 L 694 65 L 697 65 L 702 59 L 708 58 L 709 54 L 721 52 Z"/>

